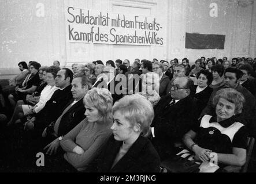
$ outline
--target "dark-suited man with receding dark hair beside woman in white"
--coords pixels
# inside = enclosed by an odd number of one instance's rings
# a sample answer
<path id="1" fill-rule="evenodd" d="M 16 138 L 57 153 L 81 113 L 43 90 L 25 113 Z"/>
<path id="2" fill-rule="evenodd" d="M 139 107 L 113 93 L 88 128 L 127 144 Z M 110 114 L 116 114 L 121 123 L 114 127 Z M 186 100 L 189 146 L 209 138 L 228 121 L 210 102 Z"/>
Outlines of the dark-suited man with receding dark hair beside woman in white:
<path id="1" fill-rule="evenodd" d="M 73 80 L 73 72 L 68 68 L 63 68 L 58 71 L 55 78 L 55 85 L 60 87 L 51 96 L 49 101 L 38 114 L 36 114 L 35 122 L 28 122 L 25 124 L 25 129 L 34 129 L 35 135 L 42 135 L 44 128 L 52 121 L 56 121 L 61 115 L 62 109 L 66 106 L 69 100 L 72 99 L 71 82 Z"/>

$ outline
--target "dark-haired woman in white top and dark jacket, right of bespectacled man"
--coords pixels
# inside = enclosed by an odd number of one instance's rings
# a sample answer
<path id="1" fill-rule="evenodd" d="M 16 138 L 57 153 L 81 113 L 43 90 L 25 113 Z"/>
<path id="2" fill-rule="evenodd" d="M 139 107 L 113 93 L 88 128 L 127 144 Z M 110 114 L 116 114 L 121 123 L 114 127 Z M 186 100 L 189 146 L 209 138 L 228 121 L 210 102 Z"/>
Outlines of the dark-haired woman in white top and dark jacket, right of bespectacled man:
<path id="1" fill-rule="evenodd" d="M 207 105 L 209 98 L 213 92 L 212 87 L 209 85 L 213 81 L 213 74 L 208 70 L 201 70 L 197 74 L 198 85 L 194 86 L 196 105 L 198 106 L 199 114 Z"/>

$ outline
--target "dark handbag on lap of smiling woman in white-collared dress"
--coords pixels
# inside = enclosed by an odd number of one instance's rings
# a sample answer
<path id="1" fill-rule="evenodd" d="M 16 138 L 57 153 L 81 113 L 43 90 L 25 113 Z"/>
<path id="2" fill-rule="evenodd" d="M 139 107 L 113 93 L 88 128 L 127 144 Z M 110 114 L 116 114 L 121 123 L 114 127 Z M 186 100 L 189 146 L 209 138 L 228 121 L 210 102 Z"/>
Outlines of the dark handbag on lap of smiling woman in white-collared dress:
<path id="1" fill-rule="evenodd" d="M 188 154 L 188 156 L 183 158 L 182 156 L 185 154 Z M 161 167 L 166 168 L 169 173 L 199 173 L 200 164 L 195 160 L 188 160 L 191 156 L 190 152 L 175 155 L 170 159 L 164 160 L 161 163 Z"/>

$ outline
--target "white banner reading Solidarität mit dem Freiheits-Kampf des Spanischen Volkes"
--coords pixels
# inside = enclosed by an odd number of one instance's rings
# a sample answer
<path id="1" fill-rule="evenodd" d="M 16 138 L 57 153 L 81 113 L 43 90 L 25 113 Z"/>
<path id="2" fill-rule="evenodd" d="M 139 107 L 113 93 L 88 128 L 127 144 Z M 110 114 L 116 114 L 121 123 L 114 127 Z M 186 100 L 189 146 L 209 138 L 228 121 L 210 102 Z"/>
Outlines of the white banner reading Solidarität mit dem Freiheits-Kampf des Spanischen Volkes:
<path id="1" fill-rule="evenodd" d="M 164 44 L 164 30 L 154 17 L 66 7 L 65 24 L 69 43 Z"/>

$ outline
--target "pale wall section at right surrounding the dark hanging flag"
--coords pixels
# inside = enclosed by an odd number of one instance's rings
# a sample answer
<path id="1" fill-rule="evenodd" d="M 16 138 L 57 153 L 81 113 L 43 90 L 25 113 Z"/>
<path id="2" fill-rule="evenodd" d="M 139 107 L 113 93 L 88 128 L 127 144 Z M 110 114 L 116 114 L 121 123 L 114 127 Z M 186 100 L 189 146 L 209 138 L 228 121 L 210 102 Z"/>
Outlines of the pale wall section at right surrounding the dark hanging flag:
<path id="1" fill-rule="evenodd" d="M 240 1 L 243 2 L 243 1 Z M 201 56 L 222 58 L 256 57 L 256 2 L 222 0 L 187 0 L 186 31 L 189 33 L 224 34 L 225 49 L 185 49 L 185 57 L 191 62 Z M 253 3 L 254 2 L 254 3 Z M 218 5 L 218 17 L 211 17 L 211 3 Z"/>

